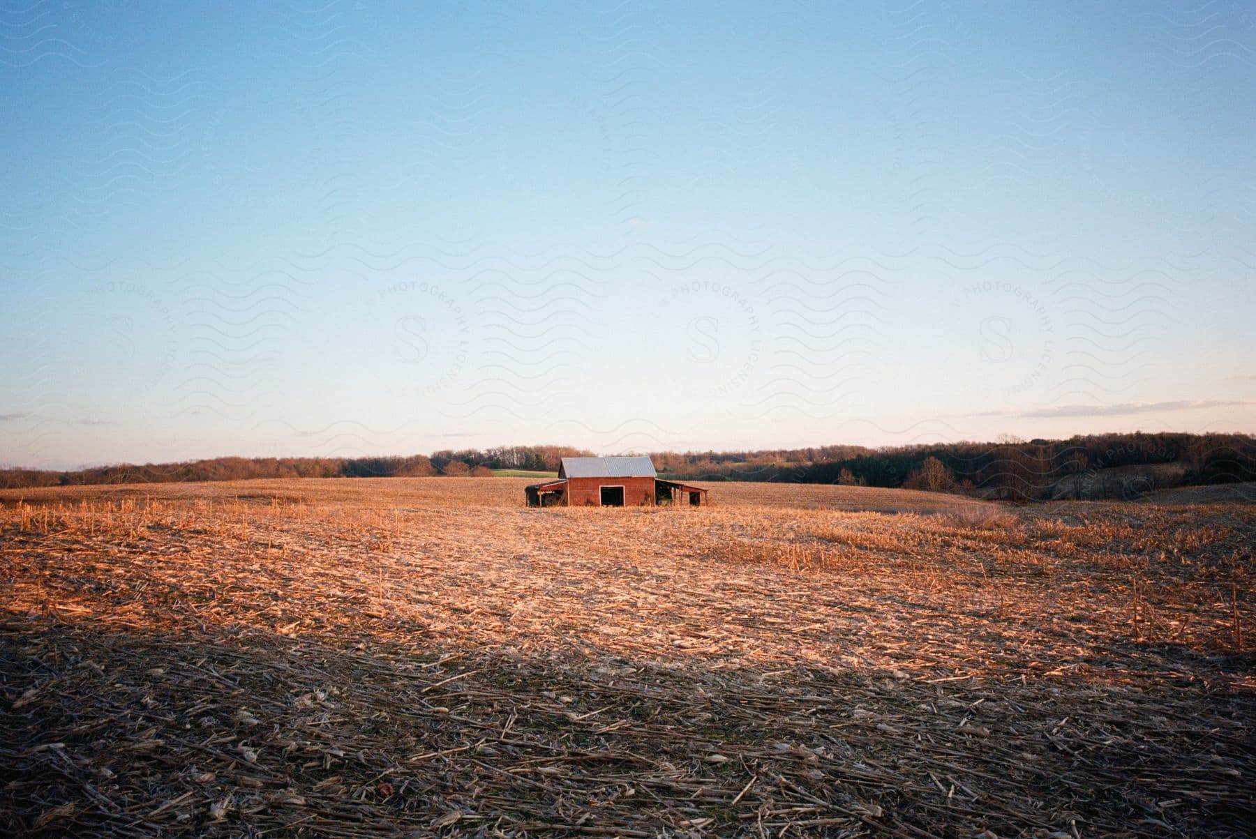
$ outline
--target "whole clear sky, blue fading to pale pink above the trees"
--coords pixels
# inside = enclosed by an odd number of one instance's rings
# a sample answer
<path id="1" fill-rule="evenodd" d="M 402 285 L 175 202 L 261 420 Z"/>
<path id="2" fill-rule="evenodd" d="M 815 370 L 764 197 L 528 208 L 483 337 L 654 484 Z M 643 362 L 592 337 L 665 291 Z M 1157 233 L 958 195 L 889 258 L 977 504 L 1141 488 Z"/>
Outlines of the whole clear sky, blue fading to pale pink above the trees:
<path id="1" fill-rule="evenodd" d="M 4 4 L 0 465 L 1256 431 L 1256 6 L 414 6 Z"/>

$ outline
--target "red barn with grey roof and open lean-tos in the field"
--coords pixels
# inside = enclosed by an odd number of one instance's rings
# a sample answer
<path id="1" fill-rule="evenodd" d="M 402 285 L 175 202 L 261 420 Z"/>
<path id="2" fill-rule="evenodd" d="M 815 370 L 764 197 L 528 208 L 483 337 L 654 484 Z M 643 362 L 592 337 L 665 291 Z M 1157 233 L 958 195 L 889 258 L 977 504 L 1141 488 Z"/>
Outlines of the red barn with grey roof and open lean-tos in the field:
<path id="1" fill-rule="evenodd" d="M 564 457 L 558 479 L 528 487 L 528 506 L 701 505 L 706 490 L 658 479 L 648 457 Z"/>

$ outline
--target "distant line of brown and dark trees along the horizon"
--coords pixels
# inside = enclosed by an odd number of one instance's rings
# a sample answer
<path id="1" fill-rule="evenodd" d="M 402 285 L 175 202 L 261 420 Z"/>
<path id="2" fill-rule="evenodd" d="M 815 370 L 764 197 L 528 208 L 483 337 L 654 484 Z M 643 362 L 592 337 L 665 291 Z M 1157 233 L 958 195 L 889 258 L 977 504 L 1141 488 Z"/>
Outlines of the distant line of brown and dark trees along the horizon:
<path id="1" fill-rule="evenodd" d="M 486 476 L 492 470 L 556 474 L 563 457 L 589 456 L 570 446 L 497 446 L 389 457 L 216 457 L 182 463 L 122 463 L 78 471 L 0 470 L 0 487 L 166 481 L 237 481 L 261 477 Z M 687 480 L 788 481 L 956 491 L 1014 501 L 1059 495 L 1128 494 L 1128 481 L 1105 470 L 1174 463 L 1179 485 L 1256 480 L 1250 435 L 1123 433 L 1069 440 L 926 443 L 869 448 L 819 446 L 759 451 L 652 452 L 659 474 Z M 1098 480 L 1096 480 L 1098 479 Z M 1145 482 L 1139 485 L 1148 489 Z M 1098 489 L 1096 489 L 1098 487 Z"/>

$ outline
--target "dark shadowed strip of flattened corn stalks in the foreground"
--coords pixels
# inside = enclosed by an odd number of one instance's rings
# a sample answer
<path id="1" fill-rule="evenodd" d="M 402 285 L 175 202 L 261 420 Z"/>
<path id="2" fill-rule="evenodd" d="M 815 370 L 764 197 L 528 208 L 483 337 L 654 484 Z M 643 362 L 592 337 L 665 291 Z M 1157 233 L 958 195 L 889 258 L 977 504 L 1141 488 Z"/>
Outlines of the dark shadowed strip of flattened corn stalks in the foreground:
<path id="1" fill-rule="evenodd" d="M 13 835 L 1242 835 L 1250 695 L 8 615 Z"/>

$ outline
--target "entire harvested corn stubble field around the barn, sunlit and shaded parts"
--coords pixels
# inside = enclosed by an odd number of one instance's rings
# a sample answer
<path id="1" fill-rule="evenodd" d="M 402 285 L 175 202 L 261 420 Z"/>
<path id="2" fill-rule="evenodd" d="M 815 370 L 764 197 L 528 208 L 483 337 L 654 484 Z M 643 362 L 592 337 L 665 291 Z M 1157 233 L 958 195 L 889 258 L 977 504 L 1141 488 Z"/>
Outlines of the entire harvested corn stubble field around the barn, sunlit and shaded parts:
<path id="1" fill-rule="evenodd" d="M 0 833 L 1256 833 L 1251 505 L 0 492 Z"/>

